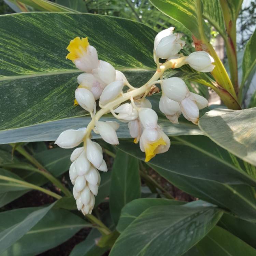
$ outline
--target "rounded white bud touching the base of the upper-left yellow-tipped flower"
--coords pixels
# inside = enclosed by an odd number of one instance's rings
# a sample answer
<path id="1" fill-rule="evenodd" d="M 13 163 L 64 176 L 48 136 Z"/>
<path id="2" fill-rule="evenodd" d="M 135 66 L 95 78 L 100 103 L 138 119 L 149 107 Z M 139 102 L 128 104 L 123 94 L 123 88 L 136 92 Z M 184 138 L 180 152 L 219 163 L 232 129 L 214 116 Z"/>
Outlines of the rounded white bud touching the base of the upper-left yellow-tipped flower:
<path id="1" fill-rule="evenodd" d="M 93 70 L 93 74 L 105 84 L 114 82 L 116 78 L 115 68 L 104 60 L 99 61 L 99 66 Z"/>

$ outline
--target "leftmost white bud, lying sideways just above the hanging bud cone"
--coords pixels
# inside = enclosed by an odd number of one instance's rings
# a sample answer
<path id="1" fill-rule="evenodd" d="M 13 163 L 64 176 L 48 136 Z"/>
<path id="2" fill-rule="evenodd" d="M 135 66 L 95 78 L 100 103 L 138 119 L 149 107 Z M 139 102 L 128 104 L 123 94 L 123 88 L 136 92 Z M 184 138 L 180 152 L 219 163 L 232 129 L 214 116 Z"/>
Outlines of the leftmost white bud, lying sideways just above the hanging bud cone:
<path id="1" fill-rule="evenodd" d="M 86 134 L 86 128 L 78 130 L 66 130 L 60 133 L 54 144 L 62 148 L 72 148 L 78 146 Z"/>

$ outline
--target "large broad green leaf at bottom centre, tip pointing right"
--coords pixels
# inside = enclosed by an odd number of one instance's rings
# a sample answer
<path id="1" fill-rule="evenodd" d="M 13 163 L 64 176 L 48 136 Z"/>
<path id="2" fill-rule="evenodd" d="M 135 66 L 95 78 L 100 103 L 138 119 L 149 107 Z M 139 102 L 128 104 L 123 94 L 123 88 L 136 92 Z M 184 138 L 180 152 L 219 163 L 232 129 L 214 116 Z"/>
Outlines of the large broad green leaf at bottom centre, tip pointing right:
<path id="1" fill-rule="evenodd" d="M 123 255 L 124 251 L 126 256 L 182 255 L 214 227 L 221 215 L 213 207 L 148 208 L 119 236 L 110 256 Z"/>

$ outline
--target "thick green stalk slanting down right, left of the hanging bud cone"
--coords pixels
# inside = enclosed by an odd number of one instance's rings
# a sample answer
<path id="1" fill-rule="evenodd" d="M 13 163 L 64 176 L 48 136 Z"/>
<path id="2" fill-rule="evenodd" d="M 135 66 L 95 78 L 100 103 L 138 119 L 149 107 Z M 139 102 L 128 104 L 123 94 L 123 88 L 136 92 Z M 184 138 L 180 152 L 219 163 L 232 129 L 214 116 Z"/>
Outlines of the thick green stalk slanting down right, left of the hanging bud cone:
<path id="1" fill-rule="evenodd" d="M 11 146 L 14 147 L 14 144 L 11 143 Z M 39 168 L 41 171 L 38 170 L 39 173 L 44 175 L 48 180 L 50 180 L 56 187 L 58 187 L 66 196 L 72 196 L 72 193 L 58 180 L 56 179 L 51 173 L 49 173 L 44 166 L 41 165 L 40 162 L 37 161 L 34 157 L 32 157 L 22 146 L 18 146 L 16 150 L 22 154 L 25 158 L 27 158 L 34 166 Z M 35 171 L 35 169 L 33 170 Z"/>

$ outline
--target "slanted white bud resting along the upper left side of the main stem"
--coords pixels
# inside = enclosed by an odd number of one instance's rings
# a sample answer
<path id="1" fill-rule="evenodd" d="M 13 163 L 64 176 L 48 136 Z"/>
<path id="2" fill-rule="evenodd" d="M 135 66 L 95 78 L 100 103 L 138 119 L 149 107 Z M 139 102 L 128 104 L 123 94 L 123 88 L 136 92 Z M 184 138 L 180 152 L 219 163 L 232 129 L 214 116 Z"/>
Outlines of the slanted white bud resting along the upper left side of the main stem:
<path id="1" fill-rule="evenodd" d="M 123 90 L 124 82 L 115 81 L 107 85 L 100 96 L 99 103 L 105 105 L 106 103 L 114 100 Z"/>

